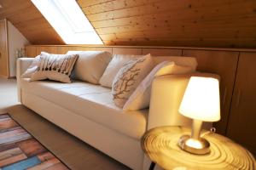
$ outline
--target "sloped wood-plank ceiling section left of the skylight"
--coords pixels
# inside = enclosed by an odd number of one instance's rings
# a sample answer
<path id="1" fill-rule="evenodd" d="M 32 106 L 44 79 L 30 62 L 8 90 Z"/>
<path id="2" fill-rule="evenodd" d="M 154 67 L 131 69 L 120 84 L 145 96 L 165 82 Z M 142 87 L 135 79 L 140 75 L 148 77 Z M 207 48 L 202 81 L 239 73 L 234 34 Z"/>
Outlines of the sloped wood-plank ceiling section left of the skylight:
<path id="1" fill-rule="evenodd" d="M 0 0 L 0 19 L 7 18 L 33 44 L 64 44 L 30 0 Z"/>

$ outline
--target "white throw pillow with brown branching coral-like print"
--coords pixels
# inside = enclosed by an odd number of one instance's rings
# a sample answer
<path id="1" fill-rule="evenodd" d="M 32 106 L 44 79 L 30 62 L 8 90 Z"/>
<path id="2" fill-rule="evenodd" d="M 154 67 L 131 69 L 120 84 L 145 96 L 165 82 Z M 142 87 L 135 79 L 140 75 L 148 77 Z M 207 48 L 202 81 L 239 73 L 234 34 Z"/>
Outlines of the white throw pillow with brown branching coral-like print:
<path id="1" fill-rule="evenodd" d="M 113 79 L 112 94 L 114 104 L 123 108 L 127 99 L 129 99 L 139 83 L 147 77 L 153 67 L 153 59 L 150 54 L 133 59 L 123 66 Z"/>

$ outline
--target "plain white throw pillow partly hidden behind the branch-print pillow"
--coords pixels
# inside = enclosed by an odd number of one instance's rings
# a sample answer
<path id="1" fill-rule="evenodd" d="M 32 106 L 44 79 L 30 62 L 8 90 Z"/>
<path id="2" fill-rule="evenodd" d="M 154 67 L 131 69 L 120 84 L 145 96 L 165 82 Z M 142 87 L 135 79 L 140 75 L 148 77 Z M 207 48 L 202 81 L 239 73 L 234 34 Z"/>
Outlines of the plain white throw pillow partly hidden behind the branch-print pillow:
<path id="1" fill-rule="evenodd" d="M 115 54 L 104 71 L 100 79 L 100 84 L 104 87 L 111 88 L 113 78 L 117 75 L 119 70 L 131 59 L 137 59 L 139 57 L 143 57 L 143 55 Z"/>

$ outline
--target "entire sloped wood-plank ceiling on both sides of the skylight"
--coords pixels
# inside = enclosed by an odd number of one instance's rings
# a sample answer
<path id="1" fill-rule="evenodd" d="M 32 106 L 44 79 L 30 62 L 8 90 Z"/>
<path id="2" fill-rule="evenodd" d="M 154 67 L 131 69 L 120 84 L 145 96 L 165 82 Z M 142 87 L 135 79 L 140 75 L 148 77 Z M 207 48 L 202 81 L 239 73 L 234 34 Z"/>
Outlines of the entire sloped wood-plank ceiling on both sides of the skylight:
<path id="1" fill-rule="evenodd" d="M 77 1 L 105 45 L 256 48 L 255 0 Z M 32 43 L 63 44 L 30 0 L 0 4 Z"/>

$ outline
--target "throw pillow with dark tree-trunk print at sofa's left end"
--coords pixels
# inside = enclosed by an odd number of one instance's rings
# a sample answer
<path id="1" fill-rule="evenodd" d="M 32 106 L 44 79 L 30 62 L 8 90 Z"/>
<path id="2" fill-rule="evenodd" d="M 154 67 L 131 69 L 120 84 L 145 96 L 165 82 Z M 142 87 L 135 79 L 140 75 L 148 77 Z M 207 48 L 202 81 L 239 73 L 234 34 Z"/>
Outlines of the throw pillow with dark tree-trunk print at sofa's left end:
<path id="1" fill-rule="evenodd" d="M 78 57 L 77 54 L 48 54 L 42 52 L 38 69 L 32 74 L 30 81 L 49 79 L 71 82 L 69 76 Z"/>

